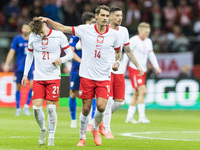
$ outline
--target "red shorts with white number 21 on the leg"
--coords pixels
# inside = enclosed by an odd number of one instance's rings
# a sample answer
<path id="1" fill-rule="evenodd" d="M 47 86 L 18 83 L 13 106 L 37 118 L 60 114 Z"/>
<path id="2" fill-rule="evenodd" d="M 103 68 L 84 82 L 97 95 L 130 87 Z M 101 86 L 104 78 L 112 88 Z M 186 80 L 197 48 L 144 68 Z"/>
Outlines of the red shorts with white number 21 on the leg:
<path id="1" fill-rule="evenodd" d="M 33 80 L 32 99 L 59 100 L 60 79 L 35 81 Z"/>

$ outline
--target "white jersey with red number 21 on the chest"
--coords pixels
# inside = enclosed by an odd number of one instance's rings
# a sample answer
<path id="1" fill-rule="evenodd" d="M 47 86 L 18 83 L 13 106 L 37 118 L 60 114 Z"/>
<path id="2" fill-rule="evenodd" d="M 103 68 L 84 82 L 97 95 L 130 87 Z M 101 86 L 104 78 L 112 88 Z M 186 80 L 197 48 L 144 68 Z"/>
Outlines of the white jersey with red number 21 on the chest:
<path id="1" fill-rule="evenodd" d="M 60 66 L 52 62 L 60 58 L 61 48 L 71 50 L 66 36 L 61 31 L 50 29 L 47 37 L 31 33 L 29 36 L 28 50 L 34 56 L 34 80 L 60 79 Z"/>

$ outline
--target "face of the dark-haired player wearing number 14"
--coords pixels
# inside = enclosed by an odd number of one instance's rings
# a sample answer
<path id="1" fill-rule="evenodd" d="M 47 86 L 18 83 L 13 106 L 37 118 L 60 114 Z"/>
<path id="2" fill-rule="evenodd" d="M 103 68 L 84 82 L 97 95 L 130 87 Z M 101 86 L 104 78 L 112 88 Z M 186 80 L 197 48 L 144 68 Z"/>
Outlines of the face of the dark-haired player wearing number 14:
<path id="1" fill-rule="evenodd" d="M 99 25 L 107 25 L 109 19 L 109 12 L 101 9 L 100 13 L 96 15 L 96 18 L 97 18 L 97 23 Z"/>

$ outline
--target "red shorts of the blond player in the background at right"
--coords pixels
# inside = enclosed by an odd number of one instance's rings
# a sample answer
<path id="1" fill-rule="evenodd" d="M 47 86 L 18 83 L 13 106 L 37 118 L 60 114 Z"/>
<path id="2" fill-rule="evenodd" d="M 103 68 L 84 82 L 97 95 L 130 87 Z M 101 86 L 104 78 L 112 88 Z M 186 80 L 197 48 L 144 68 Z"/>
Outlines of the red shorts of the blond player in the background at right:
<path id="1" fill-rule="evenodd" d="M 146 81 L 146 72 L 143 76 L 138 76 L 138 71 L 131 67 L 128 67 L 129 79 L 134 89 L 137 89 L 140 85 L 145 85 Z"/>

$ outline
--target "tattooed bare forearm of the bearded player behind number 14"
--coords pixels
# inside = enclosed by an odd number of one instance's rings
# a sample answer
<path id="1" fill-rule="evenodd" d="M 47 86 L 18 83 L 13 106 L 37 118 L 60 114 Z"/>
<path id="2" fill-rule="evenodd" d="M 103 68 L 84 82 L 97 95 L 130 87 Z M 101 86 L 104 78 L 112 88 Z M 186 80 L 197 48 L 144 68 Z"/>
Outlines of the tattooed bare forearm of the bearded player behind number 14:
<path id="1" fill-rule="evenodd" d="M 129 45 L 124 45 L 124 52 L 128 56 L 129 60 L 137 67 L 137 70 L 139 72 L 139 76 L 142 76 L 144 74 L 144 72 L 140 68 L 140 65 L 138 64 L 137 60 L 135 59 L 135 56 L 133 55 Z"/>

